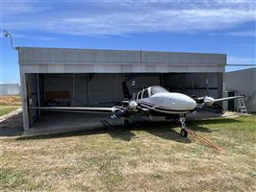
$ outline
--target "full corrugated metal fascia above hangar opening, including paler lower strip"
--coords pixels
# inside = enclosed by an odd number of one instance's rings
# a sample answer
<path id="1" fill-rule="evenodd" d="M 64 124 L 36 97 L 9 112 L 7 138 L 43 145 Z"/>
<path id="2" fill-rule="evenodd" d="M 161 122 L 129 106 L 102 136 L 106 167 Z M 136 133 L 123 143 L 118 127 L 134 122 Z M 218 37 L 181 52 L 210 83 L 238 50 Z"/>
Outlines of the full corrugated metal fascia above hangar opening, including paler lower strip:
<path id="1" fill-rule="evenodd" d="M 22 73 L 224 72 L 226 55 L 19 47 Z"/>

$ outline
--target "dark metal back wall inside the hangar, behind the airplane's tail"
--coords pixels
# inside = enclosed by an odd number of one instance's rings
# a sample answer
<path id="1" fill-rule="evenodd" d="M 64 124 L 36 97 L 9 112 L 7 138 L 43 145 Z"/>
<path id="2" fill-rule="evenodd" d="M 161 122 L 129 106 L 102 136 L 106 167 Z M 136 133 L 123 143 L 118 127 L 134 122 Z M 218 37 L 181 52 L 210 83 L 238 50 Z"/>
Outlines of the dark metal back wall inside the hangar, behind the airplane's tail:
<path id="1" fill-rule="evenodd" d="M 42 75 L 42 74 L 41 74 Z M 95 74 L 88 84 L 89 74 L 65 75 L 44 74 L 44 91 L 67 91 L 70 95 L 71 106 L 112 106 L 115 102 L 122 99 L 121 83 L 125 81 L 127 74 Z M 160 84 L 159 75 L 143 76 L 135 78 L 136 89 L 140 90 L 141 86 L 150 86 Z M 127 82 L 130 86 L 131 81 Z M 90 99 L 88 98 L 90 91 Z M 109 105 L 108 105 L 109 103 Z M 106 104 L 106 105 L 104 105 Z"/>

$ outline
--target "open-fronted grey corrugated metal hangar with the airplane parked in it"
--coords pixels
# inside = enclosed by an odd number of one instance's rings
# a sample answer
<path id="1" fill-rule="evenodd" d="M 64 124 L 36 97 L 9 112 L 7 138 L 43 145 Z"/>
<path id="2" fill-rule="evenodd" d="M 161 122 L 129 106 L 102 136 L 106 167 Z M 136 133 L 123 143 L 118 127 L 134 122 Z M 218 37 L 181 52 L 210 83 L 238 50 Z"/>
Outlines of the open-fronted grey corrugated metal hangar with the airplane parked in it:
<path id="1" fill-rule="evenodd" d="M 225 54 L 36 47 L 17 50 L 24 131 L 37 127 L 44 115 L 28 107 L 113 106 L 123 98 L 121 83 L 129 85 L 131 80 L 136 80 L 137 91 L 141 86 L 161 84 L 169 91 L 195 96 L 207 94 L 208 80 L 210 95 L 222 97 Z M 39 123 L 47 121 L 45 117 Z"/>

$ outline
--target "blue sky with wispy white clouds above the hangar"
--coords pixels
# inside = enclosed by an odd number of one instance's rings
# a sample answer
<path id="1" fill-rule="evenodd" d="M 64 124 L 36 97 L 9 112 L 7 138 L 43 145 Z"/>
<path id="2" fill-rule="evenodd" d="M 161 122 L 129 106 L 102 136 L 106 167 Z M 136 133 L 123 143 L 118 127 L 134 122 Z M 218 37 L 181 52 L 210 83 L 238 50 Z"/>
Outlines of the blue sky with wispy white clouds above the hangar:
<path id="1" fill-rule="evenodd" d="M 226 71 L 256 63 L 253 0 L 0 0 L 0 22 L 15 47 L 220 53 L 244 64 Z M 2 32 L 0 84 L 19 84 Z"/>

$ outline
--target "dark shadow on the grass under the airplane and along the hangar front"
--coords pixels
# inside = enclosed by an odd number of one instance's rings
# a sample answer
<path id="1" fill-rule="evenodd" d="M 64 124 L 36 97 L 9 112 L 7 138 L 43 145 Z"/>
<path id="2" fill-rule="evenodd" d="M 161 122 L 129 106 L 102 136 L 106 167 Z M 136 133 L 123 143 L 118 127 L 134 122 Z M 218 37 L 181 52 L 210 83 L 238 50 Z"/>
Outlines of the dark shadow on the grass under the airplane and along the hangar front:
<path id="1" fill-rule="evenodd" d="M 188 127 L 194 132 L 215 132 L 209 130 L 206 127 L 200 125 L 218 124 L 218 123 L 235 123 L 239 122 L 236 119 L 209 119 L 200 121 L 191 121 L 188 123 Z M 78 132 L 64 132 L 64 133 L 52 133 L 52 134 L 41 134 L 41 135 L 31 135 L 31 136 L 21 136 L 17 137 L 16 140 L 30 140 L 30 139 L 51 139 L 59 137 L 70 137 L 70 136 L 81 136 L 81 135 L 91 135 L 91 134 L 101 134 L 108 133 L 115 139 L 120 139 L 123 141 L 130 141 L 136 138 L 136 134 L 133 131 L 144 131 L 148 132 L 154 136 L 172 140 L 181 143 L 191 143 L 190 138 L 184 138 L 180 136 L 179 131 L 174 129 L 180 126 L 174 122 L 139 122 L 132 124 L 129 127 L 123 126 L 105 126 L 105 129 L 98 129 L 94 131 L 78 131 Z"/>

